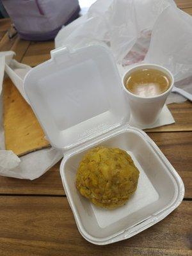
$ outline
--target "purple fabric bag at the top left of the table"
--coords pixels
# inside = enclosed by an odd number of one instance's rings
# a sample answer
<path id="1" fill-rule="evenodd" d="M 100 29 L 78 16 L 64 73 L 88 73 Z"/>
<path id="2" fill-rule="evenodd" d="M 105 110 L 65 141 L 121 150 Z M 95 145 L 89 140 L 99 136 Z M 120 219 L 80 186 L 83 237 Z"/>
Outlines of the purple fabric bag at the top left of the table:
<path id="1" fill-rule="evenodd" d="M 3 0 L 21 38 L 53 39 L 61 26 L 76 19 L 78 0 Z"/>

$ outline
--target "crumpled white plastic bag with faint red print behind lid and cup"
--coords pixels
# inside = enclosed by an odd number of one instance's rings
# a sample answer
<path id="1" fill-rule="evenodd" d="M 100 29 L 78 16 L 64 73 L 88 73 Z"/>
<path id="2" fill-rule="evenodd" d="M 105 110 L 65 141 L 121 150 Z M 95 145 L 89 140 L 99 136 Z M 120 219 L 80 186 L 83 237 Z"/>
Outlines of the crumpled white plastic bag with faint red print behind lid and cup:
<path id="1" fill-rule="evenodd" d="M 173 0 L 98 0 L 60 30 L 56 47 L 104 44 L 122 67 L 145 61 L 168 68 L 175 86 L 192 93 L 192 17 Z M 183 102 L 171 93 L 167 104 Z"/>

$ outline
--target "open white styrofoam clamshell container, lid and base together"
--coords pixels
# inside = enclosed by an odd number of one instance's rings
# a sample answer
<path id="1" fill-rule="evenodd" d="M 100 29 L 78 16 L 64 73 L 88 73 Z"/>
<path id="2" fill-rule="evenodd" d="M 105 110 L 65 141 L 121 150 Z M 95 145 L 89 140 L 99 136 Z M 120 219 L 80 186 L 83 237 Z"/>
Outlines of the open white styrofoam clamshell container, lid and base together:
<path id="1" fill-rule="evenodd" d="M 63 187 L 82 236 L 94 244 L 127 239 L 163 220 L 182 202 L 184 184 L 157 145 L 129 125 L 130 111 L 111 52 L 92 45 L 51 52 L 29 71 L 29 102 L 51 145 L 63 150 Z M 138 188 L 124 206 L 108 211 L 81 196 L 76 171 L 97 145 L 126 150 L 140 171 Z"/>

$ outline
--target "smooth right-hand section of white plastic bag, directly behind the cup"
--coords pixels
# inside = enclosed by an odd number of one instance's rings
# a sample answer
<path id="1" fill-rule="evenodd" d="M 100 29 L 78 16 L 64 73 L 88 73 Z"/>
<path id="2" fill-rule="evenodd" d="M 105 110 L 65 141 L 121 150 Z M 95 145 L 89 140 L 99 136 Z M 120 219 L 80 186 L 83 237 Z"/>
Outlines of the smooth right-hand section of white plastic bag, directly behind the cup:
<path id="1" fill-rule="evenodd" d="M 178 8 L 166 8 L 152 30 L 145 61 L 171 70 L 175 86 L 192 93 L 192 17 Z M 167 103 L 184 100 L 171 93 Z"/>

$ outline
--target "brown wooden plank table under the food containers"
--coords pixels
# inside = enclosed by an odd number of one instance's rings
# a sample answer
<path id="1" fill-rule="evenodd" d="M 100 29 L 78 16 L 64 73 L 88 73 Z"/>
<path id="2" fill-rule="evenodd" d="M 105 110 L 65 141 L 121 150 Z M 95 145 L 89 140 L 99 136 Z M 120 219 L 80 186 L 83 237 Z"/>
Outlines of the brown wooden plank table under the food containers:
<path id="1" fill-rule="evenodd" d="M 192 14 L 191 0 L 177 0 Z M 34 67 L 50 58 L 54 42 L 8 39 L 10 20 L 0 21 L 0 51 L 12 50 L 16 60 Z M 151 228 L 108 246 L 88 243 L 79 234 L 56 164 L 39 179 L 0 177 L 0 255 L 192 255 L 192 104 L 168 106 L 175 124 L 148 131 L 184 181 L 182 204 Z"/>

